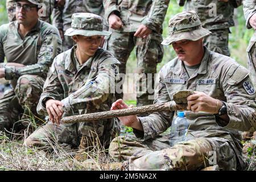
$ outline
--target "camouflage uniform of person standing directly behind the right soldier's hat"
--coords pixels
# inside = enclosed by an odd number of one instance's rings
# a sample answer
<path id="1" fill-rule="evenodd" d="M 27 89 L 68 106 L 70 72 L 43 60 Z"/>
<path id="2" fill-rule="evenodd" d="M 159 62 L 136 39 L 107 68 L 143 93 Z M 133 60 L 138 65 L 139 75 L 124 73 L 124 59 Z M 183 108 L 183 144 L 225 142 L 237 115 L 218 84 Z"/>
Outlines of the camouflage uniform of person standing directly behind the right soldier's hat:
<path id="1" fill-rule="evenodd" d="M 184 3 L 185 0 L 178 0 L 178 2 Z M 184 9 L 186 11 L 196 11 L 203 27 L 212 32 L 212 34 L 205 37 L 205 46 L 207 46 L 210 51 L 230 56 L 228 47 L 229 27 L 234 26 L 234 8 L 237 8 L 241 4 L 242 0 L 229 0 L 228 2 L 221 2 L 218 0 L 187 0 Z M 216 13 L 216 15 L 214 15 L 214 13 Z"/>

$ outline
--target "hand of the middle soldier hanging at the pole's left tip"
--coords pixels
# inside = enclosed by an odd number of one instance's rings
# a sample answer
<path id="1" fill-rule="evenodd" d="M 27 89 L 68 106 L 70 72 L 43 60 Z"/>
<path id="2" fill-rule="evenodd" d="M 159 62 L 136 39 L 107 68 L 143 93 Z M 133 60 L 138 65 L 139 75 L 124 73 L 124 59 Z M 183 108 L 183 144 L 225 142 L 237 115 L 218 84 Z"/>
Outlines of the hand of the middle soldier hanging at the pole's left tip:
<path id="1" fill-rule="evenodd" d="M 64 113 L 63 103 L 57 100 L 49 99 L 46 101 L 46 110 L 49 115 L 49 120 L 53 123 L 60 124 L 60 119 Z"/>

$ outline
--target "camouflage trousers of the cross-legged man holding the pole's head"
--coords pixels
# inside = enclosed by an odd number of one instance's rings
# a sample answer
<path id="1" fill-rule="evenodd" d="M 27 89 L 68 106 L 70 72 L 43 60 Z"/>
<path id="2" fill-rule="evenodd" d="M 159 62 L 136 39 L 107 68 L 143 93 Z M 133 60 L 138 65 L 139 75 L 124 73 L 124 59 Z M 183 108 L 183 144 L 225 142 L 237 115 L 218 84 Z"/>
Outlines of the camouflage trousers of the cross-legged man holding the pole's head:
<path id="1" fill-rule="evenodd" d="M 236 170 L 236 154 L 224 138 L 196 138 L 170 147 L 167 135 L 140 141 L 133 136 L 115 138 L 109 146 L 115 160 L 129 160 L 129 170 L 199 170 L 218 164 Z"/>

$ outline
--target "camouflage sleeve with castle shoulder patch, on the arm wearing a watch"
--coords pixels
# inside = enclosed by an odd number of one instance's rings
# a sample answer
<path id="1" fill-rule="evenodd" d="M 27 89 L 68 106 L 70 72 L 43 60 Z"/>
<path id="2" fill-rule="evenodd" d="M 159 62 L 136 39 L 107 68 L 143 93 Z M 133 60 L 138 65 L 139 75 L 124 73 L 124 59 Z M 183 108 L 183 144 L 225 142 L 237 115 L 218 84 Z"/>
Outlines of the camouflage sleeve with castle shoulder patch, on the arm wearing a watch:
<path id="1" fill-rule="evenodd" d="M 221 82 L 224 83 L 222 89 L 226 96 L 225 105 L 230 121 L 223 125 L 225 122 L 217 118 L 218 125 L 241 131 L 247 131 L 251 127 L 256 129 L 256 94 L 248 74 L 247 69 L 241 65 L 232 65 L 228 69 Z"/>

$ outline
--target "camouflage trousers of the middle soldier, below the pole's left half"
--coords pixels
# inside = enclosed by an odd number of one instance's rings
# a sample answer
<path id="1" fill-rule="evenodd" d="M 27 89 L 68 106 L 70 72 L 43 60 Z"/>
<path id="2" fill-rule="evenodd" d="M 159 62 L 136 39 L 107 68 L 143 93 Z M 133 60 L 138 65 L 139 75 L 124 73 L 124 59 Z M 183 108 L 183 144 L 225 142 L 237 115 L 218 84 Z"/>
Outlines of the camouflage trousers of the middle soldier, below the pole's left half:
<path id="1" fill-rule="evenodd" d="M 39 127 L 25 141 L 26 146 L 51 146 L 58 142 L 70 147 L 78 147 L 81 137 L 86 137 L 90 142 L 100 141 L 102 147 L 108 147 L 110 141 L 119 133 L 117 120 L 78 122 L 55 125 L 49 121 L 46 125 Z M 97 145 L 98 145 L 97 144 Z"/>

